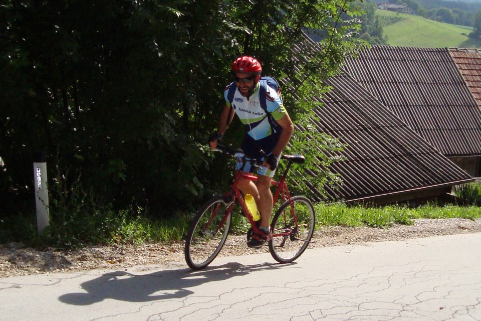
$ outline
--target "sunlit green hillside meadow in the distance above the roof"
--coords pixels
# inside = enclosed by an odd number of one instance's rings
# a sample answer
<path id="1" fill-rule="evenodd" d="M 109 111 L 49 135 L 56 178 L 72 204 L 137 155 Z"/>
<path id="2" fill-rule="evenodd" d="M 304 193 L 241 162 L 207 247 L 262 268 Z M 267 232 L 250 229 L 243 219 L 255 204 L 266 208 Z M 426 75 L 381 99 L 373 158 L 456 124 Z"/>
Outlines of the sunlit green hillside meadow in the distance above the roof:
<path id="1" fill-rule="evenodd" d="M 440 23 L 386 10 L 377 10 L 376 14 L 388 24 L 383 25 L 383 30 L 390 46 L 481 48 L 481 41 L 467 37 L 472 31 L 470 27 Z"/>

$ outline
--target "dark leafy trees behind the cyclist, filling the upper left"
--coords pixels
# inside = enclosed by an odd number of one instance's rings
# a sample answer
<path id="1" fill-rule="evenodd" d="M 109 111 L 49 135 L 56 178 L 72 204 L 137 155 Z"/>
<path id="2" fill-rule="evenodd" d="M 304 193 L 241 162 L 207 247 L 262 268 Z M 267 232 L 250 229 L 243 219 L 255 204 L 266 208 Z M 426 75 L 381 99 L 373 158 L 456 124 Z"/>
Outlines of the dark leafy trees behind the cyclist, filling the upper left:
<path id="1" fill-rule="evenodd" d="M 9 202 L 0 211 L 32 211 L 25 204 L 33 203 L 37 150 L 49 156 L 49 177 L 58 168 L 67 187 L 91 191 L 113 209 L 135 200 L 169 217 L 205 199 L 230 175 L 205 148 L 230 62 L 254 55 L 266 74 L 288 80 L 286 105 L 307 128 L 322 79 L 357 48 L 355 15 L 342 0 L 5 1 L 0 192 Z M 291 46 L 305 43 L 305 30 L 319 50 L 294 58 Z M 231 129 L 235 142 L 241 129 Z M 303 139 L 296 136 L 292 149 Z M 326 161 L 317 147 L 305 151 Z"/>

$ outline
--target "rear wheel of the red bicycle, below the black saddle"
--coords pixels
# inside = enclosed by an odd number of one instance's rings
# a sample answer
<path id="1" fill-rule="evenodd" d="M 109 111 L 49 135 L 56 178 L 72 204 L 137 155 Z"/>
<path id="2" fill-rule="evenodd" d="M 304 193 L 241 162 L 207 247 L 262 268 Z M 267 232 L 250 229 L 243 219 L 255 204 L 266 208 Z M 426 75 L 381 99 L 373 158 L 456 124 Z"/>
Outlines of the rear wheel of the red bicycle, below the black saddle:
<path id="1" fill-rule="evenodd" d="M 272 257 L 280 263 L 290 263 L 301 256 L 311 241 L 315 224 L 314 206 L 308 198 L 295 196 L 284 202 L 271 223 Z"/>

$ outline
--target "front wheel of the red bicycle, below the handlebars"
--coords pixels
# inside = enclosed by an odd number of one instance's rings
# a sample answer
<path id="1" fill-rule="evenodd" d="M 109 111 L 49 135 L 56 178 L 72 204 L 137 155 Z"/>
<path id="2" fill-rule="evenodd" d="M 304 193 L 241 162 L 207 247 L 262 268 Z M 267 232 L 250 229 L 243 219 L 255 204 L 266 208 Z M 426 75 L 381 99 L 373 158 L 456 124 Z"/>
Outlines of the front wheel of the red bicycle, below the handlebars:
<path id="1" fill-rule="evenodd" d="M 219 254 L 230 229 L 231 204 L 218 195 L 197 212 L 185 239 L 185 261 L 191 269 L 205 268 Z"/>

